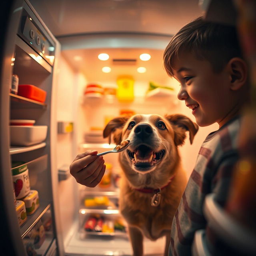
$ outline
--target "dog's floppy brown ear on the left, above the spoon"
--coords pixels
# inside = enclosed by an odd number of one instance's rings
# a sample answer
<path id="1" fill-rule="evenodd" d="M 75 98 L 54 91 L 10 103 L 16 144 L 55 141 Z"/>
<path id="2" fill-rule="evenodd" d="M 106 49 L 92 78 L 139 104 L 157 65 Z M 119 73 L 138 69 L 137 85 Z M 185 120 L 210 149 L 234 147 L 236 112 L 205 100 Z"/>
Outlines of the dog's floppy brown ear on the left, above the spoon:
<path id="1" fill-rule="evenodd" d="M 103 137 L 109 136 L 109 144 L 111 142 L 111 134 L 113 132 L 113 139 L 116 144 L 122 141 L 122 128 L 130 116 L 120 116 L 116 117 L 108 122 L 103 130 Z"/>

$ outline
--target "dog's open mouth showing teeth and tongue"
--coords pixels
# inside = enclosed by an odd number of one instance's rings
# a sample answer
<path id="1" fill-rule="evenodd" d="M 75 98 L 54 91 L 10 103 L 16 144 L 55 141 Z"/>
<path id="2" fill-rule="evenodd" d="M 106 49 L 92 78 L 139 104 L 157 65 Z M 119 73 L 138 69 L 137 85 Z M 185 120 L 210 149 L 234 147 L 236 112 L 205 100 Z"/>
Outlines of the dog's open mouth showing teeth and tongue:
<path id="1" fill-rule="evenodd" d="M 166 151 L 160 150 L 159 152 L 154 152 L 152 148 L 146 145 L 140 145 L 134 152 L 130 150 L 127 150 L 127 152 L 132 164 L 142 170 L 148 169 L 160 162 Z"/>

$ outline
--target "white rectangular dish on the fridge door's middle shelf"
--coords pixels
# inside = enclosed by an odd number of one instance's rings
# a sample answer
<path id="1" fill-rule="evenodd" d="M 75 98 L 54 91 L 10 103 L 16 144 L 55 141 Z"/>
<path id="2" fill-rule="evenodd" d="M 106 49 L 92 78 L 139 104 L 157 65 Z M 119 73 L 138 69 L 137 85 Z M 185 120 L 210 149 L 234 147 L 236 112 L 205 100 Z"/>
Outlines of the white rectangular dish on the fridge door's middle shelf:
<path id="1" fill-rule="evenodd" d="M 46 139 L 46 125 L 10 126 L 10 141 L 12 146 L 30 146 L 38 144 Z"/>

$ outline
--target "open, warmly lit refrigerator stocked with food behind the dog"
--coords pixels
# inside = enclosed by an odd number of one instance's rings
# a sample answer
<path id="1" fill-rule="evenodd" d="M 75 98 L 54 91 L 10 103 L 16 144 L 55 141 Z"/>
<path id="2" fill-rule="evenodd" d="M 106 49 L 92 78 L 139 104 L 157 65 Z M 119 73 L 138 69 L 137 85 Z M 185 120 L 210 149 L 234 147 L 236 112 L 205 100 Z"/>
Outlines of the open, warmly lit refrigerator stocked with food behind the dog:
<path id="1" fill-rule="evenodd" d="M 121 114 L 183 113 L 195 121 L 176 97 L 179 84 L 167 76 L 162 66 L 170 34 L 124 33 L 111 31 L 110 27 L 108 33 L 55 36 L 46 26 L 54 19 L 44 20 L 38 14 L 42 10 L 37 1 L 11 1 L 4 7 L 7 17 L 0 91 L 1 228 L 4 230 L 1 255 L 132 255 L 126 223 L 118 210 L 122 172 L 118 154 L 104 156 L 110 173 L 108 186 L 87 188 L 78 184 L 70 175 L 69 166 L 85 150 L 104 152 L 114 148 L 113 142 L 109 144 L 102 137 L 102 130 L 111 118 Z M 110 59 L 94 66 L 91 61 L 100 53 L 109 54 Z M 144 53 L 151 55 L 150 65 L 139 59 Z M 112 68 L 110 73 L 95 71 L 108 65 Z M 138 73 L 137 68 L 144 66 L 147 72 Z M 116 93 L 120 76 L 132 83 L 133 96 L 128 100 L 127 94 Z M 20 89 L 17 92 L 17 78 L 19 88 L 27 86 L 29 95 L 22 96 Z M 148 91 L 150 83 L 158 89 Z M 90 85 L 95 84 L 100 91 L 88 93 Z M 20 124 L 17 120 L 35 123 Z M 19 126 L 22 129 L 25 126 L 24 130 L 15 130 Z M 216 124 L 200 128 L 192 145 L 186 139 L 180 147 L 188 176 L 204 138 L 217 128 Z M 22 139 L 25 142 L 20 142 Z M 36 198 L 33 206 L 36 210 L 32 213 L 30 206 L 23 203 L 28 192 L 19 187 L 17 179 L 23 179 L 32 191 L 31 196 Z M 19 195 L 22 192 L 25 194 Z M 87 231 L 86 222 L 95 216 L 112 229 Z M 154 242 L 145 238 L 145 255 L 161 255 L 164 244 L 164 238 Z"/>

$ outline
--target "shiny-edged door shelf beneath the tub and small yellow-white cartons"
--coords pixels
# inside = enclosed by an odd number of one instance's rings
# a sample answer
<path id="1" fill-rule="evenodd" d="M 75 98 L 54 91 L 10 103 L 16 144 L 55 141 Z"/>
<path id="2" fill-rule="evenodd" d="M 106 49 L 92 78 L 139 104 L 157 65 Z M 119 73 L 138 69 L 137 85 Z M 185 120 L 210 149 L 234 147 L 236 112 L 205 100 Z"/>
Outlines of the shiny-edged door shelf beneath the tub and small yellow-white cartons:
<path id="1" fill-rule="evenodd" d="M 36 222 L 38 222 L 38 220 L 44 215 L 44 213 L 49 208 L 50 208 L 49 202 L 41 202 L 40 201 L 40 205 L 39 205 L 38 209 L 36 209 L 34 214 L 28 215 L 26 222 L 24 222 L 24 224 L 20 227 L 20 233 L 21 233 L 22 238 L 24 238 L 24 236 L 26 236 L 26 234 L 31 230 L 31 228 L 33 228 L 33 226 L 36 224 Z"/>

